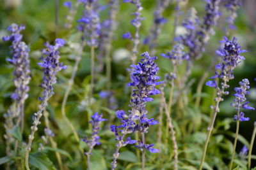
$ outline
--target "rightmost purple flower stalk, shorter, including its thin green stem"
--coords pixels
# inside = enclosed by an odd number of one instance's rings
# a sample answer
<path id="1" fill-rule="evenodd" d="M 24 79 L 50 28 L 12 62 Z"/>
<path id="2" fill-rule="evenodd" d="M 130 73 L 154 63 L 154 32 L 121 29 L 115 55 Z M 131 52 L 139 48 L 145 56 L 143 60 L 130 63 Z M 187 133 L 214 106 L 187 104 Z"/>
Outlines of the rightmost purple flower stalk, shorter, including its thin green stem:
<path id="1" fill-rule="evenodd" d="M 233 146 L 233 152 L 232 152 L 232 158 L 230 161 L 230 166 L 229 169 L 232 169 L 233 162 L 234 162 L 234 157 L 236 153 L 236 143 L 238 139 L 238 133 L 239 133 L 239 122 L 241 121 L 248 121 L 250 118 L 244 117 L 244 113 L 241 112 L 241 108 L 244 110 L 255 110 L 254 108 L 248 106 L 249 102 L 246 102 L 246 95 L 249 94 L 247 91 L 250 89 L 250 83 L 248 79 L 243 79 L 242 81 L 239 82 L 240 87 L 236 87 L 234 90 L 236 91 L 236 94 L 234 96 L 236 99 L 234 99 L 234 103 L 231 103 L 231 106 L 233 106 L 236 109 L 236 115 L 234 116 L 234 120 L 236 120 L 236 136 L 234 140 L 234 146 Z"/>

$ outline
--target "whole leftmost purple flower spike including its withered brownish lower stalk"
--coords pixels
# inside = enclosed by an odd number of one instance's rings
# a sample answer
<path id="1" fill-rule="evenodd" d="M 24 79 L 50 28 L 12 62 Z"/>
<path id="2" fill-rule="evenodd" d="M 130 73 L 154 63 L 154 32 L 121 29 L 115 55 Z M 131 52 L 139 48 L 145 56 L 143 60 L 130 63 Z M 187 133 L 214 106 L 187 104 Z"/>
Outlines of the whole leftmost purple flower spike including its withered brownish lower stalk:
<path id="1" fill-rule="evenodd" d="M 22 34 L 20 34 L 20 31 L 23 29 L 25 29 L 24 25 L 12 24 L 7 28 L 7 31 L 10 31 L 11 35 L 3 37 L 3 41 L 12 42 L 10 48 L 13 57 L 12 59 L 7 59 L 7 61 L 15 67 L 13 71 L 15 92 L 11 95 L 13 104 L 10 106 L 7 113 L 4 113 L 4 129 L 6 129 L 4 138 L 6 139 L 6 154 L 8 156 L 12 155 L 11 143 L 13 141 L 13 137 L 8 131 L 13 129 L 14 125 L 19 125 L 23 119 L 22 117 L 24 117 L 24 103 L 28 98 L 28 84 L 31 79 L 29 69 L 29 48 L 26 43 L 22 41 Z M 15 122 L 13 122 L 14 119 Z"/>

